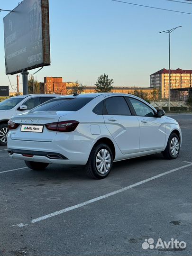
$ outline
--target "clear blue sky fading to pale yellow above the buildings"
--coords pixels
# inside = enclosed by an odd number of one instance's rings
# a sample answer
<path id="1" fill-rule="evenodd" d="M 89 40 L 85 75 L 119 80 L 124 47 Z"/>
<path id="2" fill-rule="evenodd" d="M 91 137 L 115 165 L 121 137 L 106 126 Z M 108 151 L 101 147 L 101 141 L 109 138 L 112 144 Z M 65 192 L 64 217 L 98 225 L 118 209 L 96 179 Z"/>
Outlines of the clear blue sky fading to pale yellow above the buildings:
<path id="1" fill-rule="evenodd" d="M 167 0 L 125 1 L 192 12 L 190 4 Z M 14 9 L 17 4 L 18 0 L 1 0 L 0 9 Z M 192 69 L 192 15 L 111 0 L 49 0 L 49 13 L 51 66 L 37 73 L 40 82 L 44 76 L 63 76 L 65 82 L 93 85 L 107 73 L 115 86 L 149 86 L 151 73 L 168 68 L 168 34 L 158 32 L 180 25 L 171 35 L 171 68 Z M 0 12 L 0 85 L 9 85 L 4 64 L 5 15 Z M 16 75 L 9 77 L 16 84 Z"/>

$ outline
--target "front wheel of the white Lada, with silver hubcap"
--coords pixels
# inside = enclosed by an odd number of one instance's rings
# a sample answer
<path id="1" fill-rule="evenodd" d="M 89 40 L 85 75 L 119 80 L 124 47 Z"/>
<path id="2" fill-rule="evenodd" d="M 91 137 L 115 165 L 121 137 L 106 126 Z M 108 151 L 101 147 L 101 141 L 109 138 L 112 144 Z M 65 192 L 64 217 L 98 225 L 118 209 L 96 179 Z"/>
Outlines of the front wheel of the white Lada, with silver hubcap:
<path id="1" fill-rule="evenodd" d="M 175 159 L 180 151 L 180 139 L 176 133 L 171 133 L 167 141 L 167 146 L 162 152 L 165 159 Z"/>

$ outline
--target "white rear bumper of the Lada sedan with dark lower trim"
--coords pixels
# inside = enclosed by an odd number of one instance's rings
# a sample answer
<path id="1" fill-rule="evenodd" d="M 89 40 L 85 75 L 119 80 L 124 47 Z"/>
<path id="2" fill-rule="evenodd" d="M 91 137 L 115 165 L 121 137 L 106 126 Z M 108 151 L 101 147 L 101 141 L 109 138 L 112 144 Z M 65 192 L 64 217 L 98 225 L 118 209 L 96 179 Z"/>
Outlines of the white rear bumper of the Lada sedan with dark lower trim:
<path id="1" fill-rule="evenodd" d="M 74 139 L 75 137 L 75 139 Z M 16 140 L 8 135 L 8 154 L 24 161 L 86 165 L 93 140 L 74 133 L 60 134 L 51 142 Z"/>

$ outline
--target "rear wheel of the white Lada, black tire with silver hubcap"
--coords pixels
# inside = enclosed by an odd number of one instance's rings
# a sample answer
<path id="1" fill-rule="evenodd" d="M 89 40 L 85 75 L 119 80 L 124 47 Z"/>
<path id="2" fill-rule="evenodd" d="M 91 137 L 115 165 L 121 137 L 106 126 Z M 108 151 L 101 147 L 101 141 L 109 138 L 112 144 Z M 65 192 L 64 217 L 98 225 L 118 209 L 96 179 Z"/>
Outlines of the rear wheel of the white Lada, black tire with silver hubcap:
<path id="1" fill-rule="evenodd" d="M 98 143 L 90 153 L 85 165 L 86 174 L 93 179 L 103 179 L 110 174 L 113 165 L 113 154 L 108 145 Z"/>

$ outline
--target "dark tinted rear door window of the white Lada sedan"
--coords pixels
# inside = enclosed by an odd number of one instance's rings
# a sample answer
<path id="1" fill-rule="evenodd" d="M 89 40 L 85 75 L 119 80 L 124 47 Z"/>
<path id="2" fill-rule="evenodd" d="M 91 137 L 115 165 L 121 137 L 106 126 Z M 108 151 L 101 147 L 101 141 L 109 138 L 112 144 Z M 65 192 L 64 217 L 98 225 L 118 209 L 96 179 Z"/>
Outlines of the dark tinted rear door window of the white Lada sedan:
<path id="1" fill-rule="evenodd" d="M 105 108 L 107 115 L 131 115 L 128 104 L 122 96 L 107 98 Z"/>

